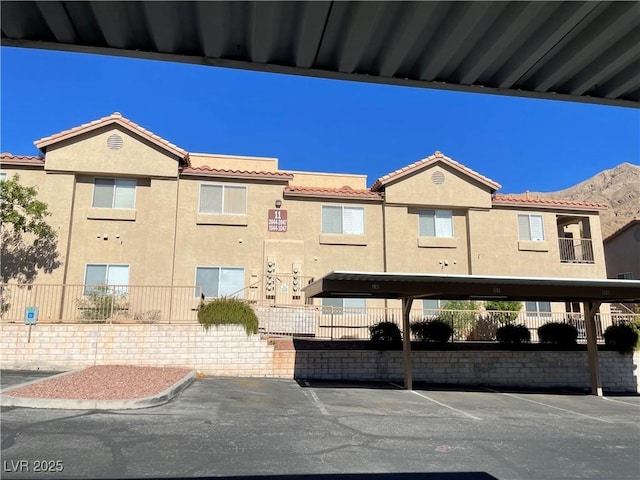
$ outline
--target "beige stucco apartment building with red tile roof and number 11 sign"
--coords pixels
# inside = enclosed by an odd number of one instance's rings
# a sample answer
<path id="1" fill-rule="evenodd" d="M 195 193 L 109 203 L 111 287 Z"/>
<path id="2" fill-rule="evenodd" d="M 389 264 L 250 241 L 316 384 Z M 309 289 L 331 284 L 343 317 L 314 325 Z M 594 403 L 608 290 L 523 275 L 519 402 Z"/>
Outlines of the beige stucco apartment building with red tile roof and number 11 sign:
<path id="1" fill-rule="evenodd" d="M 605 205 L 496 193 L 497 182 L 440 152 L 369 188 L 364 175 L 187 152 L 119 113 L 35 145 L 39 157 L 2 154 L 1 172 L 37 185 L 52 213 L 63 264 L 37 284 L 173 286 L 194 301 L 284 305 L 305 303 L 304 284 L 332 270 L 607 276 Z"/>

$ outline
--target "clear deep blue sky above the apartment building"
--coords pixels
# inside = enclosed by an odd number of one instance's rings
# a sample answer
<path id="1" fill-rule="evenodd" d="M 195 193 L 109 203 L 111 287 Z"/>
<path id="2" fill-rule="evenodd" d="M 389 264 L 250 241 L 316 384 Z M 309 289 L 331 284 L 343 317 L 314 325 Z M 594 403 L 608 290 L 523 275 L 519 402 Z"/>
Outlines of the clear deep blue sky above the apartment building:
<path id="1" fill-rule="evenodd" d="M 567 188 L 640 163 L 640 112 L 572 102 L 1 49 L 3 152 L 125 117 L 191 152 L 376 178 L 439 150 L 503 193 Z"/>

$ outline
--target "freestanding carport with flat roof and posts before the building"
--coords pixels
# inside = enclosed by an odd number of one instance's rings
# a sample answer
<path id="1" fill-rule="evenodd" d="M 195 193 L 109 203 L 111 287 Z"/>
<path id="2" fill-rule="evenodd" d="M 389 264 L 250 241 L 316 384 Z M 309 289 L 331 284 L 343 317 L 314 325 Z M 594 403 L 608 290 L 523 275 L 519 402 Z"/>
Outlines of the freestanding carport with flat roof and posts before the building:
<path id="1" fill-rule="evenodd" d="M 591 391 L 602 395 L 595 314 L 602 303 L 640 302 L 640 281 L 334 271 L 307 285 L 307 298 L 402 300 L 404 384 L 412 389 L 409 312 L 415 299 L 582 302 L 587 330 Z"/>

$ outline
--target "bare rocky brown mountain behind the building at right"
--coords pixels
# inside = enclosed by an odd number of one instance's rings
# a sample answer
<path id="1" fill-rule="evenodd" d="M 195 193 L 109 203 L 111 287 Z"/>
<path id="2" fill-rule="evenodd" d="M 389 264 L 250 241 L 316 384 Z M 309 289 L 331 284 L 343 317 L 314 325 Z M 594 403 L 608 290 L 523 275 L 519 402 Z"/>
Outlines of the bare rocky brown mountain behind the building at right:
<path id="1" fill-rule="evenodd" d="M 608 210 L 600 212 L 604 239 L 632 218 L 640 217 L 640 166 L 622 163 L 573 187 L 534 195 L 609 205 Z"/>

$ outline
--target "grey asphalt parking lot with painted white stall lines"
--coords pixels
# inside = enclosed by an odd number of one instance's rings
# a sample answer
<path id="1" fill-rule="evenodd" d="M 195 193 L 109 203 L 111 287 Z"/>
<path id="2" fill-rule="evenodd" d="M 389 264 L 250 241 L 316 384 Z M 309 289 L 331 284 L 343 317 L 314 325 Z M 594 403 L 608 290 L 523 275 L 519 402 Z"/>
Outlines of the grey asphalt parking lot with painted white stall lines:
<path id="1" fill-rule="evenodd" d="M 639 396 L 205 378 L 144 410 L 3 408 L 1 476 L 637 480 L 639 420 Z"/>

